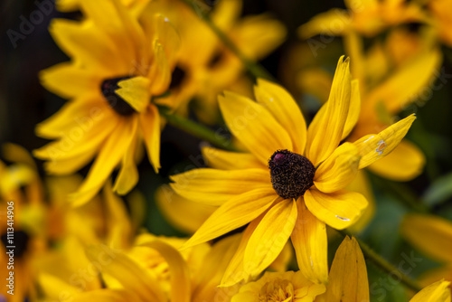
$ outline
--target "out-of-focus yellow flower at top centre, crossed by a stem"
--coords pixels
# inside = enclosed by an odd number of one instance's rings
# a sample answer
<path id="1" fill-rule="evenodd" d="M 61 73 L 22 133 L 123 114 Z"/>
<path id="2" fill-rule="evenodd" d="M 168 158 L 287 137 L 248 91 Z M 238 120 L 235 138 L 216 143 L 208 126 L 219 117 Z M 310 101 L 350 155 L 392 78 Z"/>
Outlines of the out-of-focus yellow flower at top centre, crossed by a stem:
<path id="1" fill-rule="evenodd" d="M 268 14 L 240 17 L 242 0 L 223 0 L 214 7 L 196 2 L 200 11 L 209 13 L 218 26 L 248 59 L 257 61 L 284 41 L 286 29 Z M 217 95 L 225 89 L 248 92 L 250 80 L 244 79 L 242 62 L 226 47 L 217 34 L 179 0 L 155 1 L 155 9 L 164 12 L 181 35 L 181 52 L 173 73 L 168 99 L 188 104 L 195 99 L 194 112 L 204 123 L 218 121 Z M 243 77 L 243 78 L 242 78 Z M 182 110 L 186 110 L 186 106 Z"/>

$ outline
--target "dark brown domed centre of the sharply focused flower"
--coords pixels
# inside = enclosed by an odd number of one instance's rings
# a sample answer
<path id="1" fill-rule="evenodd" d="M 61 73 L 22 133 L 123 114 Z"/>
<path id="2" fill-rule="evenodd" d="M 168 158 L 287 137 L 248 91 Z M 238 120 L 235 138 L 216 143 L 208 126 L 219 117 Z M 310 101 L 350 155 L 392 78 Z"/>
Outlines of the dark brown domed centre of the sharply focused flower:
<path id="1" fill-rule="evenodd" d="M 315 167 L 305 156 L 278 150 L 268 159 L 271 184 L 283 198 L 298 198 L 314 184 Z"/>

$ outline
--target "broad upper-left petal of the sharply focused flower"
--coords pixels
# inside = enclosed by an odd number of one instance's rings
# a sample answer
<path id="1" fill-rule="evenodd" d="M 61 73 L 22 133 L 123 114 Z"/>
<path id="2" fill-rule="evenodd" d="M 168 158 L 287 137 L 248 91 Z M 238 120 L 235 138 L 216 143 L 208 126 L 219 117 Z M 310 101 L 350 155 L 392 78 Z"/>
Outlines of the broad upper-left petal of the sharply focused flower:
<path id="1" fill-rule="evenodd" d="M 264 106 L 227 91 L 224 97 L 219 96 L 219 103 L 232 134 L 264 165 L 278 149 L 292 150 L 286 129 Z"/>

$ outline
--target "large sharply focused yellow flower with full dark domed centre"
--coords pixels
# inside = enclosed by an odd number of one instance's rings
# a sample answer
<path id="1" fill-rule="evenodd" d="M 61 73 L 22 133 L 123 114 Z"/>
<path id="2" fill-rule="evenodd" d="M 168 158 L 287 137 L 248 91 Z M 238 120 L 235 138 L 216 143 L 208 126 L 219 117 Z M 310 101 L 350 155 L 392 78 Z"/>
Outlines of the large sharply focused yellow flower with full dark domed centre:
<path id="1" fill-rule="evenodd" d="M 223 118 L 249 153 L 203 148 L 212 168 L 174 175 L 174 191 L 198 203 L 220 206 L 184 245 L 210 241 L 250 223 L 222 285 L 256 277 L 290 237 L 299 269 L 326 282 L 326 229 L 356 222 L 367 201 L 348 192 L 357 171 L 386 156 L 405 136 L 414 115 L 355 143 L 340 142 L 359 116 L 359 91 L 349 60 L 341 58 L 329 100 L 306 130 L 297 103 L 276 84 L 259 80 L 258 102 L 226 91 Z M 269 167 L 269 171 L 268 171 Z"/>

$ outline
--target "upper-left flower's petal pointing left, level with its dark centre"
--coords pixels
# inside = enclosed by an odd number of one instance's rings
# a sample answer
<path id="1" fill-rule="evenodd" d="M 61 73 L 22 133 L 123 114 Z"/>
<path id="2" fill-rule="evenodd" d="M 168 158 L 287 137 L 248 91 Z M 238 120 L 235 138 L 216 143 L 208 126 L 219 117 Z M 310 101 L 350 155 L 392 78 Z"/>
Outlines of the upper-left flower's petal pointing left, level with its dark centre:
<path id="1" fill-rule="evenodd" d="M 99 75 L 68 62 L 41 71 L 39 79 L 47 90 L 68 99 L 97 91 L 100 87 Z"/>

